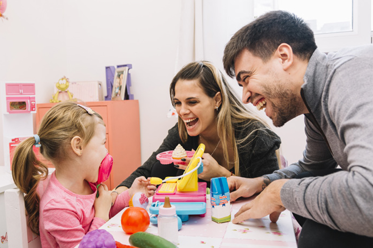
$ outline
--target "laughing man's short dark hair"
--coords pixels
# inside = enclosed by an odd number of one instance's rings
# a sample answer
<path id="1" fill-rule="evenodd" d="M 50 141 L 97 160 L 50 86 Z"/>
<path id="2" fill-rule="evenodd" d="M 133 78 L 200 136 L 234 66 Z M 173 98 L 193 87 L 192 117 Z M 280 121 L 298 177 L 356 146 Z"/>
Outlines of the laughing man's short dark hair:
<path id="1" fill-rule="evenodd" d="M 283 10 L 271 11 L 232 36 L 224 49 L 224 69 L 230 77 L 235 77 L 234 62 L 243 49 L 266 62 L 281 43 L 290 45 L 293 53 L 303 60 L 309 60 L 317 48 L 313 32 L 303 19 Z"/>

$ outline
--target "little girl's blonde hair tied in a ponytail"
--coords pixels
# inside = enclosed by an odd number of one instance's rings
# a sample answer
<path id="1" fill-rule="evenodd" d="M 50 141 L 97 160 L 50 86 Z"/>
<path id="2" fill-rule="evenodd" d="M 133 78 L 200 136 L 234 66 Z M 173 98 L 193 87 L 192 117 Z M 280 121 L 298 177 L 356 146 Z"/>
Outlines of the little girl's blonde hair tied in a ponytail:
<path id="1" fill-rule="evenodd" d="M 105 125 L 98 113 L 91 115 L 76 103 L 56 104 L 43 117 L 37 132 L 40 137 L 40 153 L 58 169 L 59 161 L 68 157 L 71 139 L 79 136 L 83 141 L 82 146 L 86 145 L 93 137 L 98 123 Z M 40 196 L 37 186 L 39 180 L 47 178 L 48 168 L 35 157 L 34 144 L 35 138 L 30 137 L 16 147 L 12 176 L 16 186 L 25 194 L 27 225 L 39 235 Z"/>

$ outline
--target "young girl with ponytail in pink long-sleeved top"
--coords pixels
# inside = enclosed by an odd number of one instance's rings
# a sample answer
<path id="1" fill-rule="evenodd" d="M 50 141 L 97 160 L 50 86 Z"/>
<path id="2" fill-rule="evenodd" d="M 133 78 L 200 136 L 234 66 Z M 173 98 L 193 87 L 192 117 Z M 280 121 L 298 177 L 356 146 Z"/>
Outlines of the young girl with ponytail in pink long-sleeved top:
<path id="1" fill-rule="evenodd" d="M 107 165 L 104 161 L 110 157 L 105 142 L 106 128 L 98 113 L 80 104 L 63 102 L 46 113 L 37 135 L 16 148 L 13 179 L 26 194 L 28 226 L 40 234 L 43 248 L 75 247 L 85 233 L 99 228 L 128 206 L 135 192 L 154 194 L 155 186 L 145 177 L 138 177 L 112 204 L 111 193 L 116 196 L 116 191 L 109 191 L 104 184 L 96 186 Z M 48 169 L 35 157 L 34 145 L 56 168 L 41 199 L 38 181 L 46 179 Z"/>

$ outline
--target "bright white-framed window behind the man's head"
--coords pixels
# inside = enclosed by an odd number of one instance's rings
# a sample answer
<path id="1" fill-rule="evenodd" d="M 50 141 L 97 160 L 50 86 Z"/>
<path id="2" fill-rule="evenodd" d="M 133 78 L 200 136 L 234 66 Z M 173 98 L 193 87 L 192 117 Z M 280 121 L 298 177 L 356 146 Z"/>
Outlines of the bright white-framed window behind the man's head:
<path id="1" fill-rule="evenodd" d="M 309 23 L 322 52 L 371 43 L 371 0 L 254 0 L 254 17 L 287 10 Z M 369 22 L 371 20 L 371 22 Z"/>

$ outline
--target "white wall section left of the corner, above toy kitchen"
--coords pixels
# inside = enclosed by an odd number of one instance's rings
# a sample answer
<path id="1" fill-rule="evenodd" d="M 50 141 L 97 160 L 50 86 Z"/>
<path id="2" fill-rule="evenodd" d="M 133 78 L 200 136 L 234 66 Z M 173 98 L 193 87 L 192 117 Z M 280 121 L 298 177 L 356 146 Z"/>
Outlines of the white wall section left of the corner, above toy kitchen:
<path id="1" fill-rule="evenodd" d="M 37 102 L 48 101 L 56 75 L 66 73 L 65 41 L 58 38 L 64 30 L 61 9 L 62 2 L 57 1 L 9 1 L 4 14 L 9 20 L 0 20 L 0 81 L 35 81 Z M 0 165 L 2 125 L 1 120 Z"/>

